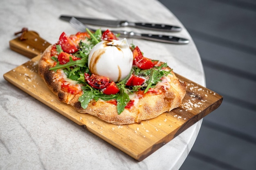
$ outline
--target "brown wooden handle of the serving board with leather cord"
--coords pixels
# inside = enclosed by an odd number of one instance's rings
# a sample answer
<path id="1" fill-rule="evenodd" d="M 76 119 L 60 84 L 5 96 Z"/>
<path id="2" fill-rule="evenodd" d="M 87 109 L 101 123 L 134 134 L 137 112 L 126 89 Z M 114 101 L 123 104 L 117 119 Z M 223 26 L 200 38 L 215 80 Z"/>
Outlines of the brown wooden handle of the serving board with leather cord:
<path id="1" fill-rule="evenodd" d="M 35 31 L 25 31 L 18 32 L 22 33 L 20 37 L 12 39 L 9 41 L 11 50 L 16 51 L 30 59 L 36 57 L 37 55 L 44 52 L 44 50 L 51 45 L 45 39 L 42 39 L 38 33 Z M 15 33 L 17 35 L 18 33 Z"/>

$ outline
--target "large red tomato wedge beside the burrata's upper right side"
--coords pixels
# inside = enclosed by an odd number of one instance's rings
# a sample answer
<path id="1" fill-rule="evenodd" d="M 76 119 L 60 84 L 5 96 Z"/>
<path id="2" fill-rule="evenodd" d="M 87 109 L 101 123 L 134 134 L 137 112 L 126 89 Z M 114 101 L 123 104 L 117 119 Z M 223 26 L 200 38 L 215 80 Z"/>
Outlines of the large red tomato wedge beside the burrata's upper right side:
<path id="1" fill-rule="evenodd" d="M 155 64 L 153 63 L 153 61 L 144 57 L 138 46 L 136 46 L 134 50 L 132 50 L 132 54 L 134 59 L 133 64 L 137 65 L 138 68 L 146 70 L 154 67 Z"/>

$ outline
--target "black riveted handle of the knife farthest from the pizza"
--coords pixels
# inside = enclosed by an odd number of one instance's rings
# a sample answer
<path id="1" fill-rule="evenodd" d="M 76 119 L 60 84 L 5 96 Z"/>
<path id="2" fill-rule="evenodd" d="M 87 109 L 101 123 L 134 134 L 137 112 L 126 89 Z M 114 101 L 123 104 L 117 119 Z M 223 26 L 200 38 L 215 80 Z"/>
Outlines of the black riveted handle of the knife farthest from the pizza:
<path id="1" fill-rule="evenodd" d="M 169 32 L 178 32 L 181 31 L 181 28 L 178 26 L 165 25 L 165 24 L 149 24 L 149 23 L 134 23 L 137 28 L 150 29 L 155 31 L 169 31 Z"/>

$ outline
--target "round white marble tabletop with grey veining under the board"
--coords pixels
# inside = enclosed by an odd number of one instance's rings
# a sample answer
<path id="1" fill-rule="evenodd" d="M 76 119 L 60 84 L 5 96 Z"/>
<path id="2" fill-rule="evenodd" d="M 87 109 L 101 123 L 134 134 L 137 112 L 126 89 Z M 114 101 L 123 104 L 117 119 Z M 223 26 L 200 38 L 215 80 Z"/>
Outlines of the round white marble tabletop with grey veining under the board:
<path id="1" fill-rule="evenodd" d="M 53 44 L 63 31 L 76 32 L 67 22 L 58 19 L 59 15 L 68 14 L 182 26 L 183 31 L 170 35 L 189 38 L 188 45 L 139 39 L 128 39 L 128 42 L 139 45 L 145 56 L 166 61 L 175 72 L 205 86 L 202 63 L 193 40 L 182 23 L 157 0 L 1 0 L 0 14 L 1 75 L 29 60 L 9 49 L 14 32 L 27 27 Z M 0 169 L 4 170 L 178 169 L 189 154 L 202 123 L 200 120 L 138 162 L 14 87 L 3 76 L 0 86 Z"/>

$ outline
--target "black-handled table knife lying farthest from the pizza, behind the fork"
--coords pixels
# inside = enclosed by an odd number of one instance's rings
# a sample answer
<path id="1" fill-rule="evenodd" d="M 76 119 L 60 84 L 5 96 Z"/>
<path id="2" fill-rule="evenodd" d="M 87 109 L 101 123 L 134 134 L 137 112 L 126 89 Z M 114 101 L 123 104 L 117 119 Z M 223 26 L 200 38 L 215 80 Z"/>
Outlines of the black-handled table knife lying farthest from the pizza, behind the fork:
<path id="1" fill-rule="evenodd" d="M 60 19 L 65 21 L 70 21 L 70 19 L 75 16 L 61 15 Z M 108 26 L 108 27 L 124 27 L 132 26 L 137 28 L 144 28 L 154 31 L 168 31 L 168 32 L 178 32 L 182 29 L 179 26 L 172 26 L 166 24 L 154 24 L 145 22 L 129 22 L 126 20 L 102 20 L 97 18 L 86 18 L 86 17 L 75 17 L 77 20 L 83 24 L 98 25 L 98 26 Z"/>

